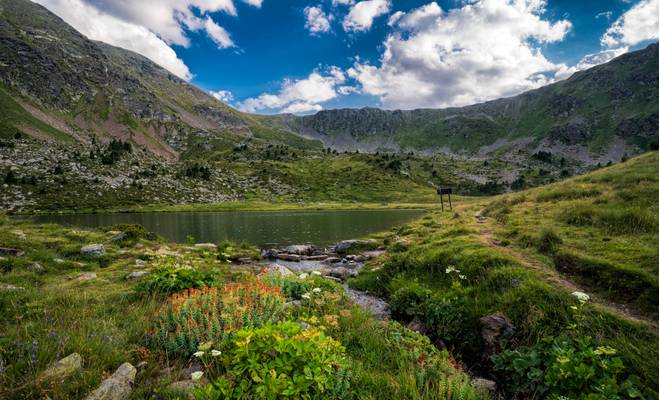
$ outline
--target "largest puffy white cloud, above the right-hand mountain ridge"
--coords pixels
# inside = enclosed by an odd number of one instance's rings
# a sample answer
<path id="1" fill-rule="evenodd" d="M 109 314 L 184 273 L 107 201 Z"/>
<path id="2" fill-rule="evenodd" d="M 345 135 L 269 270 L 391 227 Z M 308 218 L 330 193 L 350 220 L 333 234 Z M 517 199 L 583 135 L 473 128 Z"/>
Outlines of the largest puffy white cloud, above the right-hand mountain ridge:
<path id="1" fill-rule="evenodd" d="M 432 2 L 398 15 L 379 65 L 357 61 L 348 75 L 386 108 L 462 106 L 550 83 L 566 68 L 542 54 L 567 20 L 543 18 L 542 0 L 480 0 L 445 12 Z"/>

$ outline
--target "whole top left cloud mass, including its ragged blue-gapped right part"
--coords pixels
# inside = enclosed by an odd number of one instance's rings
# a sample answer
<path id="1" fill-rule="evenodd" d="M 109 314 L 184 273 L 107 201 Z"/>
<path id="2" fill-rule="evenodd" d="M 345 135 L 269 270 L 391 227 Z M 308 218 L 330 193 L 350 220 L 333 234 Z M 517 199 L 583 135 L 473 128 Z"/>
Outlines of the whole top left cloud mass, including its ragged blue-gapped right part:
<path id="1" fill-rule="evenodd" d="M 235 44 L 210 13 L 237 15 L 233 0 L 34 0 L 93 40 L 140 53 L 173 74 L 192 73 L 170 47 L 187 47 L 187 31 L 202 31 L 219 48 Z M 242 0 L 260 7 L 263 0 Z"/>

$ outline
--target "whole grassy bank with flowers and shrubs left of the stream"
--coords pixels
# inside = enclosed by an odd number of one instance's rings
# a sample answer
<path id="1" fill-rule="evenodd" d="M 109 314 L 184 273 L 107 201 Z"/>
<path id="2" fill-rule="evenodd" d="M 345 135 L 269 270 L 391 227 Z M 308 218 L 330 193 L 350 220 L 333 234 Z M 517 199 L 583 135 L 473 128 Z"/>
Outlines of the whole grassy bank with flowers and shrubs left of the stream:
<path id="1" fill-rule="evenodd" d="M 331 280 L 256 277 L 258 268 L 232 261 L 258 257 L 249 245 L 195 248 L 164 243 L 135 226 L 112 229 L 126 236 L 0 218 L 2 247 L 21 251 L 0 259 L 0 398 L 83 398 L 126 361 L 139 365 L 134 399 L 184 398 L 171 384 L 189 382 L 188 368 L 199 363 L 201 399 L 242 398 L 241 390 L 274 397 L 292 390 L 286 393 L 293 398 L 484 398 L 447 352 L 397 323 L 376 320 Z M 104 243 L 104 253 L 82 255 L 91 243 Z M 128 279 L 141 270 L 150 275 Z M 184 291 L 190 288 L 201 290 Z M 206 307 L 213 293 L 221 294 L 224 328 L 212 331 L 212 344 L 206 344 L 210 331 L 198 330 L 191 317 L 173 320 L 181 330 L 162 333 L 159 318 L 179 309 L 172 302 L 194 297 Z M 233 308 L 236 295 L 249 301 Z M 179 334 L 181 340 L 172 339 Z M 273 355 L 272 340 L 281 335 L 288 339 L 277 342 Z M 246 336 L 256 363 L 243 358 Z M 204 355 L 192 354 L 202 348 Z M 50 365 L 74 352 L 80 368 L 44 378 Z M 276 379 L 269 378 L 273 371 Z"/>

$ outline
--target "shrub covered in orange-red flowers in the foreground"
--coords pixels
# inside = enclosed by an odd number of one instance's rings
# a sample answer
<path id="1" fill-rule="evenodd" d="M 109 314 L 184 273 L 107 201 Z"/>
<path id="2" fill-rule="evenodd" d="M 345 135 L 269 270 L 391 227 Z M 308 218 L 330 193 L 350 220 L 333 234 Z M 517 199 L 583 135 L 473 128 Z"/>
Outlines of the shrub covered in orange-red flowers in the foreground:
<path id="1" fill-rule="evenodd" d="M 158 311 L 151 342 L 172 353 L 189 355 L 201 343 L 222 347 L 236 331 L 277 321 L 284 315 L 285 298 L 277 287 L 259 278 L 221 289 L 186 289 L 170 297 Z"/>

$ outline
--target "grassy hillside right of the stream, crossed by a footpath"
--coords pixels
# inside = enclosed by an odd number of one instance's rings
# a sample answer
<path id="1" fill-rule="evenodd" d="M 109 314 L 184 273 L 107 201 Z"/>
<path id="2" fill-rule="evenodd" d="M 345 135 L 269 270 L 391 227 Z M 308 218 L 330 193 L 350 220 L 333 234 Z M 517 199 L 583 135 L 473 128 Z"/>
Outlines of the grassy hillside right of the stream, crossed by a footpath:
<path id="1" fill-rule="evenodd" d="M 645 398 L 655 398 L 657 176 L 653 152 L 545 187 L 465 200 L 453 213 L 382 235 L 388 261 L 351 285 L 388 298 L 400 321 L 421 321 L 436 343 L 495 377 L 505 398 L 575 393 L 568 384 L 584 378 L 579 368 L 606 376 L 581 358 L 597 346 L 615 349 L 624 364 L 617 389 L 607 390 L 623 393 L 622 381 L 635 375 Z M 582 304 L 575 291 L 590 300 Z M 479 324 L 494 313 L 516 327 L 498 358 L 489 357 Z M 569 363 L 557 361 L 559 350 Z M 567 375 L 556 380 L 557 371 Z M 575 398 L 602 385 L 589 382 Z"/>

